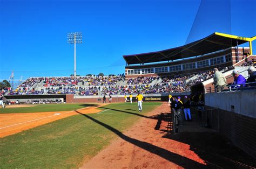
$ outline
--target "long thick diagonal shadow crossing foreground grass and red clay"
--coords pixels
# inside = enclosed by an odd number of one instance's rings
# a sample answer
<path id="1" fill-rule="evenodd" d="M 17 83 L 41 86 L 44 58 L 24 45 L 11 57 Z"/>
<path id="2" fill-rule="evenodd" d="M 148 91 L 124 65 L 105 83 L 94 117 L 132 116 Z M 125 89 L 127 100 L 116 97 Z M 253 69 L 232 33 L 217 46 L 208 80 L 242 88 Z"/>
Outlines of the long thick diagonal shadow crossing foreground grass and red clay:
<path id="1" fill-rule="evenodd" d="M 151 153 L 154 153 L 166 160 L 169 160 L 171 161 L 172 163 L 174 164 L 177 164 L 181 167 L 185 167 L 185 168 L 188 168 L 188 167 L 193 167 L 193 168 L 205 168 L 206 166 L 203 165 L 203 164 L 200 164 L 200 163 L 197 163 L 197 161 L 194 161 L 194 160 L 191 160 L 191 159 L 188 159 L 186 157 L 183 157 L 183 156 L 180 156 L 179 154 L 176 154 L 176 153 L 173 153 L 173 152 L 170 152 L 168 150 L 165 150 L 161 147 L 158 147 L 158 146 L 155 146 L 155 145 L 152 145 L 150 143 L 147 143 L 147 142 L 142 142 L 140 140 L 137 140 L 137 139 L 134 139 L 134 138 L 131 138 L 131 137 L 128 137 L 126 135 L 124 135 L 122 132 L 118 131 L 117 129 L 114 129 L 112 128 L 112 126 L 110 125 L 107 125 L 103 122 L 100 122 L 98 121 L 97 119 L 95 118 L 92 118 L 91 116 L 88 116 L 86 114 L 82 114 L 80 112 L 77 111 L 78 114 L 80 115 L 83 115 L 84 117 L 90 119 L 91 121 L 95 122 L 95 123 L 98 123 L 99 125 L 102 125 L 104 126 L 104 128 L 112 131 L 113 133 L 115 133 L 117 136 L 119 136 L 120 138 L 124 139 L 126 142 L 129 142 L 133 145 L 136 145 L 146 151 L 149 151 Z"/>

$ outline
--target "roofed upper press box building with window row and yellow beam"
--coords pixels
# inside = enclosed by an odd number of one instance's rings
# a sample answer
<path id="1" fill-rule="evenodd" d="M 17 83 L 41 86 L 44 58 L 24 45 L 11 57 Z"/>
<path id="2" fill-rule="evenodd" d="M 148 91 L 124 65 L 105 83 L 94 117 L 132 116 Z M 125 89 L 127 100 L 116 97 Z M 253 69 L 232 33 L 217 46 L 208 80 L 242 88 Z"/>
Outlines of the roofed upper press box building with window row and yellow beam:
<path id="1" fill-rule="evenodd" d="M 251 41 L 254 39 L 255 37 L 243 38 L 215 32 L 184 46 L 158 52 L 124 55 L 127 64 L 125 75 L 127 78 L 142 75 L 163 76 L 197 73 L 217 66 L 230 67 L 252 54 Z M 248 42 L 250 47 L 238 47 Z"/>

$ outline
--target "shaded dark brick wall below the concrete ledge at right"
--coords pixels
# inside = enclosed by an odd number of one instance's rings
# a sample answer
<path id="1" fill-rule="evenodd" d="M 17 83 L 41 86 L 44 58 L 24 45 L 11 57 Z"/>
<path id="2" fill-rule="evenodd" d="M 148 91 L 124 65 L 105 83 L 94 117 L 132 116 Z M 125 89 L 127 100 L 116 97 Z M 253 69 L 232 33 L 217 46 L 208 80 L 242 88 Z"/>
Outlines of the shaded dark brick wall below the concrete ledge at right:
<path id="1" fill-rule="evenodd" d="M 205 109 L 214 108 L 205 106 Z M 256 158 L 256 118 L 218 109 L 207 111 L 207 118 L 204 112 L 203 121 L 229 138 L 235 146 Z"/>

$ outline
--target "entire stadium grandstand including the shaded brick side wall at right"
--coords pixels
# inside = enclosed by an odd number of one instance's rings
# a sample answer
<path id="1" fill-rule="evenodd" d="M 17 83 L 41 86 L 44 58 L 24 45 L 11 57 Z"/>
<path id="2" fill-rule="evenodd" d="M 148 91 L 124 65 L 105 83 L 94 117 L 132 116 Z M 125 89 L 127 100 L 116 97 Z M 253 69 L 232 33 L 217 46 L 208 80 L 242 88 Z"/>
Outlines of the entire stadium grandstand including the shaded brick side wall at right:
<path id="1" fill-rule="evenodd" d="M 167 102 L 169 95 L 182 99 L 186 95 L 199 124 L 219 131 L 255 157 L 255 139 L 240 140 L 251 136 L 255 126 L 255 78 L 242 85 L 233 83 L 235 75 L 248 80 L 249 69 L 255 71 L 255 39 L 213 33 L 169 50 L 124 55 L 125 74 L 31 77 L 17 89 L 3 88 L 1 95 L 5 104 L 102 103 L 103 96 L 111 96 L 112 102 L 125 102 L 125 95 L 136 97 L 138 93 L 146 102 Z M 249 47 L 238 46 L 245 43 Z M 213 86 L 214 68 L 226 78 L 221 89 Z"/>

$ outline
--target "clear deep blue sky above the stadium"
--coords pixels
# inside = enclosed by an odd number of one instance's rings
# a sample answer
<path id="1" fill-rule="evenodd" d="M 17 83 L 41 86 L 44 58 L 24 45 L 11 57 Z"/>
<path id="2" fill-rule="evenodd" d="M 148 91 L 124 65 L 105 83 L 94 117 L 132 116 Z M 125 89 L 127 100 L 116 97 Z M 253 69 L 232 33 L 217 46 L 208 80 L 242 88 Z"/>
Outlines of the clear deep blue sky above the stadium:
<path id="1" fill-rule="evenodd" d="M 68 32 L 83 33 L 83 44 L 76 50 L 79 75 L 124 73 L 123 55 L 177 47 L 215 31 L 252 37 L 255 4 L 254 0 L 0 0 L 0 79 L 9 79 L 11 71 L 15 79 L 73 74 Z"/>

